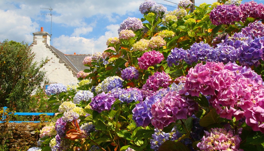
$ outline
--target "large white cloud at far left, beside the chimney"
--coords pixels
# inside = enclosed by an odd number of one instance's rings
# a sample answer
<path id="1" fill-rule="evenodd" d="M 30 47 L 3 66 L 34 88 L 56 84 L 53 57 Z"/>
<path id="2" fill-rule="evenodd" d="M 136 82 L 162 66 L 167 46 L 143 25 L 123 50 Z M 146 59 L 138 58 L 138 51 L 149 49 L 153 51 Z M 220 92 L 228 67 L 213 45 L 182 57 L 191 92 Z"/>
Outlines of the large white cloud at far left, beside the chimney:
<path id="1" fill-rule="evenodd" d="M 0 41 L 5 39 L 13 40 L 17 42 L 29 42 L 33 41 L 33 32 L 38 31 L 39 25 L 36 22 L 32 22 L 28 16 L 22 16 L 12 10 L 0 9 Z"/>

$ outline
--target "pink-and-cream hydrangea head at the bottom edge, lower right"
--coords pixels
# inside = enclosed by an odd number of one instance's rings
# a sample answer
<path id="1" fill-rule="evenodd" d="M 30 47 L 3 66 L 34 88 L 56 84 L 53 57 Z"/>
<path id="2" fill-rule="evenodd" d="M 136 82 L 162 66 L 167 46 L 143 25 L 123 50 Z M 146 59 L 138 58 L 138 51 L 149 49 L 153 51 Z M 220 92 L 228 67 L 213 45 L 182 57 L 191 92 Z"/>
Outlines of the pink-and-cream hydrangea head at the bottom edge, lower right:
<path id="1" fill-rule="evenodd" d="M 206 135 L 202 138 L 202 142 L 197 144 L 197 147 L 201 150 L 242 151 L 242 149 L 239 149 L 241 138 L 239 135 L 234 135 L 230 130 L 213 128 L 211 129 L 211 133 L 205 131 L 205 134 Z"/>

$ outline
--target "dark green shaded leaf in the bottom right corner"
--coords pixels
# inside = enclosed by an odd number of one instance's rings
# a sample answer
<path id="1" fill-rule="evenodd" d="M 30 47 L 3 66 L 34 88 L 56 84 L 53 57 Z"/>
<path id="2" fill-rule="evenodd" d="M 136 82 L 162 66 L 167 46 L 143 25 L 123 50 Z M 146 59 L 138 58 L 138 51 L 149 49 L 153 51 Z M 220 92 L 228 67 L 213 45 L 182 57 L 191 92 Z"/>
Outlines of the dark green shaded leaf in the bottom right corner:
<path id="1" fill-rule="evenodd" d="M 260 131 L 252 131 L 246 139 L 246 144 L 258 145 L 262 143 L 264 143 L 264 134 Z"/>

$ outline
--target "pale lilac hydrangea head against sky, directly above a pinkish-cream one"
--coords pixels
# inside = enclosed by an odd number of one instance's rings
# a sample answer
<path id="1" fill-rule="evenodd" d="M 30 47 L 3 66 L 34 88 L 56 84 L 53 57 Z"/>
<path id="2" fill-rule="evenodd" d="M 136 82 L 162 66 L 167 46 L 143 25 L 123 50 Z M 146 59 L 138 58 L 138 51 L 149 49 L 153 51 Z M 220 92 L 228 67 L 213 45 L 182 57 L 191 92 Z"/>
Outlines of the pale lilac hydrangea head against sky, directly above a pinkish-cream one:
<path id="1" fill-rule="evenodd" d="M 118 29 L 118 34 L 120 33 L 121 30 L 131 29 L 133 31 L 136 31 L 141 28 L 143 28 L 143 24 L 139 18 L 128 17 L 120 24 L 120 27 Z"/>

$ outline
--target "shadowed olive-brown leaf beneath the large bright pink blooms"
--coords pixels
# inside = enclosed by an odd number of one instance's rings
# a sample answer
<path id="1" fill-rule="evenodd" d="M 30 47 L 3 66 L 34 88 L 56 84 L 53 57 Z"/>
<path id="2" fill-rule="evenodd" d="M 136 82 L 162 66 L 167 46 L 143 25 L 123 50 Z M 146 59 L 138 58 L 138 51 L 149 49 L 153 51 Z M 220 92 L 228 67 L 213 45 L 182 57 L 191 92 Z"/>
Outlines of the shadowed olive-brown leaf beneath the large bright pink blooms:
<path id="1" fill-rule="evenodd" d="M 212 109 L 207 115 L 201 118 L 200 125 L 207 127 L 211 124 L 215 124 L 219 121 L 219 115 L 216 113 L 215 109 Z"/>

